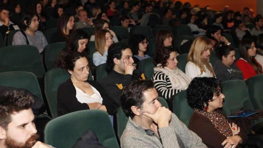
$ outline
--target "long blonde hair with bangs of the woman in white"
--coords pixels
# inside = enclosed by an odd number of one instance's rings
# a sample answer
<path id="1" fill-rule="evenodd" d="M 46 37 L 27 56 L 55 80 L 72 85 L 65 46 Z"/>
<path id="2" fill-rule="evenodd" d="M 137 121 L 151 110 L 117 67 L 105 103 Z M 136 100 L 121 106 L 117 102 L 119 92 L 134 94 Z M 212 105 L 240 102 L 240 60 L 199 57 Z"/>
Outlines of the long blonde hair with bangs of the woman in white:
<path id="1" fill-rule="evenodd" d="M 212 66 L 209 64 L 209 58 L 203 59 L 202 54 L 204 51 L 210 50 L 212 51 L 213 47 L 211 44 L 211 40 L 205 36 L 197 37 L 190 47 L 190 51 L 187 57 L 187 61 L 194 63 L 201 70 L 201 74 L 205 71 L 204 65 L 208 68 L 212 76 L 215 76 L 215 72 Z"/>

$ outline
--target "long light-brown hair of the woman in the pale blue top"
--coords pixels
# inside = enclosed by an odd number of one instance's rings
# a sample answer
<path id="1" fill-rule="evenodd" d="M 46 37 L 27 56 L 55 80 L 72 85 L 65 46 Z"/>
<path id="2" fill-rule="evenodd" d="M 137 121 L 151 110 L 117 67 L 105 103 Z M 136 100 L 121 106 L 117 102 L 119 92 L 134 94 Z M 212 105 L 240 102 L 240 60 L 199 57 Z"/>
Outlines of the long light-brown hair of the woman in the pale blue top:
<path id="1" fill-rule="evenodd" d="M 95 47 L 96 51 L 98 51 L 101 55 L 104 54 L 105 45 L 106 45 L 106 33 L 110 33 L 106 29 L 100 29 L 95 34 Z"/>

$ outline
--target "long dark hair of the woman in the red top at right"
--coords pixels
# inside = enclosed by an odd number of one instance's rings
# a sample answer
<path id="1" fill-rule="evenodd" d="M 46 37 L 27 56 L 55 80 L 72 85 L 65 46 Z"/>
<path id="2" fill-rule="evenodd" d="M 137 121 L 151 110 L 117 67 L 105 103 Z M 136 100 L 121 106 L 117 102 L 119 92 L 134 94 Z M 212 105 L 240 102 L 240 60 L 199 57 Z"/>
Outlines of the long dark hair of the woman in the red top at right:
<path id="1" fill-rule="evenodd" d="M 260 74 L 262 72 L 261 65 L 259 65 L 259 63 L 255 61 L 255 56 L 249 57 L 249 55 L 247 54 L 247 51 L 251 48 L 252 42 L 253 41 L 249 39 L 242 40 L 239 45 L 239 51 L 241 57 L 253 66 L 257 74 Z"/>

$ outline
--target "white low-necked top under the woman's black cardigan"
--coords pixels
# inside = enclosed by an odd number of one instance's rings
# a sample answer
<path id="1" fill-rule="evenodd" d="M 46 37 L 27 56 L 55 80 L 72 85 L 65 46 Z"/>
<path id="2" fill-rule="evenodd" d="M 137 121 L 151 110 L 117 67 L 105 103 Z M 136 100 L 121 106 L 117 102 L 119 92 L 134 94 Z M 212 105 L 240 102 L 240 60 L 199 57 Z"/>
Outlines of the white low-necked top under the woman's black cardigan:
<path id="1" fill-rule="evenodd" d="M 77 88 L 76 86 L 74 86 L 76 89 L 76 98 L 78 99 L 78 101 L 80 103 L 94 103 L 94 102 L 98 102 L 102 104 L 102 97 L 100 96 L 99 91 L 97 91 L 97 89 L 95 89 L 93 86 L 91 86 L 92 90 L 94 91 L 94 94 L 92 94 L 91 96 L 89 96 L 88 94 L 86 94 L 84 91 L 82 91 L 81 89 Z"/>

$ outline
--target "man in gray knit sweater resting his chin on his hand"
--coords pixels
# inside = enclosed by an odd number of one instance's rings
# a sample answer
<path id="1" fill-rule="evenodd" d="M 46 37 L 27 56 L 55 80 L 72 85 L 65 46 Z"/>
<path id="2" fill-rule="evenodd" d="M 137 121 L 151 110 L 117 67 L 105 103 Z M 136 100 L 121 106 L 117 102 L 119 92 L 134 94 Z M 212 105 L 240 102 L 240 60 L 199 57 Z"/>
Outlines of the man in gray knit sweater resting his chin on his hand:
<path id="1" fill-rule="evenodd" d="M 120 139 L 122 148 L 206 147 L 175 114 L 161 107 L 152 81 L 132 82 L 124 87 L 120 101 L 129 116 Z"/>

